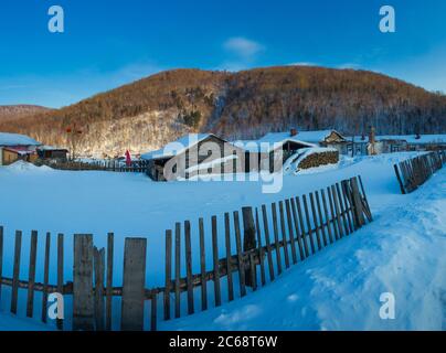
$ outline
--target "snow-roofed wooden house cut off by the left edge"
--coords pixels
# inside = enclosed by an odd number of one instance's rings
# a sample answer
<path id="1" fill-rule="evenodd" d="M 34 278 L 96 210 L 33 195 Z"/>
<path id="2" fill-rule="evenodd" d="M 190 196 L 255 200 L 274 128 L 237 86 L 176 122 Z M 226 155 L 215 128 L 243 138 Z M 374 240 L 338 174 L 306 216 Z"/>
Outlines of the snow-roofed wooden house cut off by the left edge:
<path id="1" fill-rule="evenodd" d="M 19 133 L 0 132 L 0 165 L 8 165 L 23 160 L 34 162 L 36 148 L 42 143 Z"/>

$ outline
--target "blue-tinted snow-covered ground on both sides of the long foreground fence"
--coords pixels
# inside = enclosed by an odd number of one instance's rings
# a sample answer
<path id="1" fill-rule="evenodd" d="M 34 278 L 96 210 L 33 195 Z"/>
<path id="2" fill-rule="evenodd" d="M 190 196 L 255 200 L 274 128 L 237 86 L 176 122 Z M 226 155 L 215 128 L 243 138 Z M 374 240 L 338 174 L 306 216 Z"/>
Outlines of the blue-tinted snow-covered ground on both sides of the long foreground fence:
<path id="1" fill-rule="evenodd" d="M 446 276 L 442 275 L 446 272 L 442 258 L 446 250 L 446 215 L 442 212 L 446 206 L 446 171 L 414 194 L 401 195 L 393 163 L 412 156 L 344 158 L 338 168 L 320 173 L 285 175 L 278 194 L 263 194 L 259 182 L 155 183 L 142 174 L 67 172 L 15 164 L 0 168 L 0 224 L 6 227 L 6 249 L 13 248 L 15 229 L 24 234 L 31 229 L 42 235 L 65 233 L 67 261 L 73 233 L 93 233 L 95 244 L 105 246 L 107 232 L 115 232 L 116 264 L 123 261 L 125 236 L 145 236 L 147 286 L 155 287 L 163 281 L 163 234 L 174 222 L 222 216 L 245 205 L 267 204 L 361 174 L 375 217 L 371 225 L 245 299 L 161 322 L 160 329 L 440 330 L 446 328 Z M 26 246 L 24 239 L 24 258 Z M 43 242 L 39 252 L 43 252 Z M 10 276 L 12 254 L 6 256 L 4 276 Z M 42 261 L 38 258 L 38 278 L 42 276 Z M 116 267 L 115 285 L 120 286 L 121 266 Z M 70 266 L 65 277 L 72 277 Z M 396 319 L 383 321 L 379 299 L 387 291 L 396 298 Z M 8 300 L 2 300 L 2 309 L 8 310 Z M 6 318 L 0 315 L 0 329 L 4 329 L 1 324 Z"/>

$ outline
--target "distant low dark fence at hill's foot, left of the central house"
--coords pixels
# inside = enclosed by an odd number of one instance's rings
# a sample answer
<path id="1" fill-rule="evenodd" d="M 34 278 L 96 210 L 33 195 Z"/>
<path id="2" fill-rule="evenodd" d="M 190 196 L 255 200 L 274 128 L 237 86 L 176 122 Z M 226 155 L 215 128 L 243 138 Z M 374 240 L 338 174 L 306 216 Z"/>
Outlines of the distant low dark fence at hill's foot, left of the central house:
<path id="1" fill-rule="evenodd" d="M 59 170 L 74 170 L 74 171 L 108 171 L 119 173 L 146 173 L 148 162 L 140 160 L 134 161 L 131 165 L 124 165 L 121 161 L 105 160 L 105 161 L 55 161 L 45 163 L 45 165 Z"/>

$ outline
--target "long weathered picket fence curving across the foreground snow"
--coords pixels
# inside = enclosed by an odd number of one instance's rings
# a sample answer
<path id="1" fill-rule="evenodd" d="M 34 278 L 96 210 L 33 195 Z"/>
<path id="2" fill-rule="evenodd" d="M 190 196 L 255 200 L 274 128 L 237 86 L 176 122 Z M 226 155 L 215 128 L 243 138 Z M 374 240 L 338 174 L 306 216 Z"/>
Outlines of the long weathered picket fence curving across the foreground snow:
<path id="1" fill-rule="evenodd" d="M 2 276 L 3 228 L 0 227 L 0 304 L 2 286 L 11 288 L 12 313 L 18 312 L 19 289 L 28 290 L 26 315 L 33 317 L 36 306 L 34 295 L 40 291 L 43 293 L 39 303 L 42 308 L 40 319 L 46 322 L 49 293 L 72 296 L 72 327 L 64 327 L 64 322 L 59 320 L 59 329 L 100 331 L 112 330 L 113 318 L 119 315 L 114 312 L 113 300 L 119 297 L 120 330 L 142 330 L 145 322 L 146 327 L 157 330 L 161 319 L 170 320 L 220 307 L 224 298 L 233 301 L 257 290 L 274 281 L 285 269 L 351 235 L 371 221 L 362 180 L 357 176 L 269 206 L 243 207 L 241 213 L 225 213 L 220 228 L 224 229 L 224 242 L 221 243 L 216 216 L 209 220 L 210 234 L 205 234 L 203 218 L 198 220 L 197 229 L 192 228 L 190 221 L 177 223 L 173 229 L 166 231 L 164 285 L 158 288 L 146 286 L 146 238 L 125 239 L 123 286 L 113 287 L 114 234 L 108 234 L 107 247 L 100 249 L 94 246 L 93 235 L 74 236 L 73 281 L 66 282 L 64 235 L 59 234 L 57 280 L 55 285 L 50 285 L 50 265 L 54 266 L 50 264 L 51 235 L 45 237 L 43 282 L 36 282 L 38 233 L 31 234 L 28 279 L 21 280 L 22 232 L 18 231 L 13 276 L 6 278 Z M 193 244 L 199 243 L 197 248 L 192 247 L 192 239 L 197 240 Z M 209 242 L 211 246 L 206 246 Z M 223 258 L 219 256 L 219 244 L 224 244 Z M 193 254 L 193 249 L 198 254 Z M 212 255 L 211 261 L 206 261 L 206 255 Z M 192 258 L 199 259 L 197 272 L 193 271 Z M 238 290 L 235 290 L 236 287 Z M 150 313 L 146 315 L 147 301 Z"/>

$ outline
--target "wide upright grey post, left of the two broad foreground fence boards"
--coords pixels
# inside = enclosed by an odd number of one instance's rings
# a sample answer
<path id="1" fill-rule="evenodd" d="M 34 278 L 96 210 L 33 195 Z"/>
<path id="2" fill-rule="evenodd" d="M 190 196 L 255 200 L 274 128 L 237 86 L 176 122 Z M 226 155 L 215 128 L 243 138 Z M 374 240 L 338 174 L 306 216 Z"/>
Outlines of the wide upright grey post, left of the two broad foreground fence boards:
<path id="1" fill-rule="evenodd" d="M 93 235 L 74 236 L 73 330 L 94 330 Z"/>

